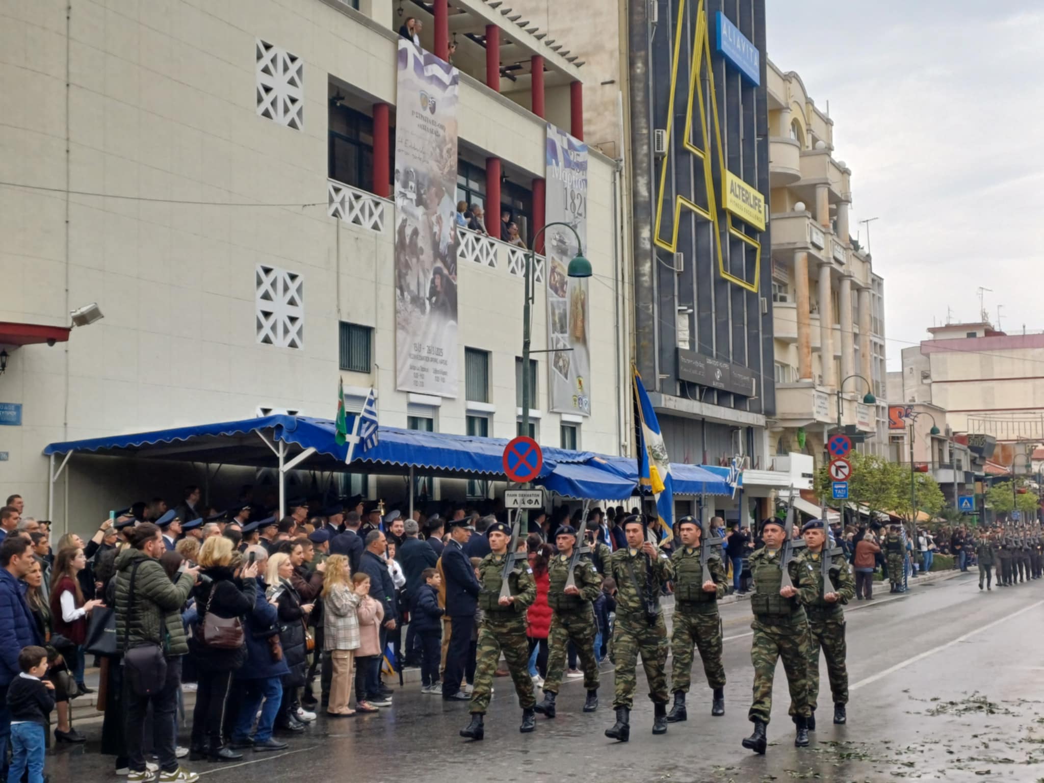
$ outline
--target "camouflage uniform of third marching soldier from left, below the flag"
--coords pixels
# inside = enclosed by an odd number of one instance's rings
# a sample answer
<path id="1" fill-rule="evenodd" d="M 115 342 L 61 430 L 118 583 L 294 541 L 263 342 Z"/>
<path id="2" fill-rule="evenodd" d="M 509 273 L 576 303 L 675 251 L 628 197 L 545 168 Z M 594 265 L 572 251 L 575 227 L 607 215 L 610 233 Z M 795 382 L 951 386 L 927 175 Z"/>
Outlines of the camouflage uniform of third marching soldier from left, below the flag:
<path id="1" fill-rule="evenodd" d="M 608 574 L 616 580 L 616 623 L 613 627 L 613 657 L 616 663 L 616 694 L 613 707 L 631 709 L 635 695 L 635 669 L 638 654 L 649 684 L 654 704 L 666 705 L 667 624 L 659 606 L 660 589 L 674 575 L 670 560 L 663 552 L 651 562 L 657 603 L 652 622 L 645 612 L 646 574 L 649 560 L 642 550 L 617 549 L 609 561 Z M 637 584 L 635 584 L 637 582 Z"/>

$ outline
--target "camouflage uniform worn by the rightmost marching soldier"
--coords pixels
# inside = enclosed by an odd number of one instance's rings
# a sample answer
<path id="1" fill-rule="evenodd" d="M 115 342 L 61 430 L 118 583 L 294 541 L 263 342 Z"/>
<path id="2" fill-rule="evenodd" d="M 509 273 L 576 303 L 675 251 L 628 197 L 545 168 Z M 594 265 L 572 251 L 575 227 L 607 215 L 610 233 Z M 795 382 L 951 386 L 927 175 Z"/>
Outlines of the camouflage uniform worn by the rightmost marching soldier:
<path id="1" fill-rule="evenodd" d="M 834 603 L 823 598 L 823 561 L 820 552 L 805 550 L 800 560 L 812 567 L 810 576 L 815 582 L 815 598 L 807 603 L 808 615 L 808 708 L 815 711 L 820 696 L 820 648 L 827 659 L 827 677 L 834 704 L 848 704 L 848 667 L 845 665 L 845 610 L 841 606 L 855 595 L 855 577 L 844 555 L 830 562 L 830 580 L 840 599 Z M 791 705 L 791 712 L 793 706 Z"/>

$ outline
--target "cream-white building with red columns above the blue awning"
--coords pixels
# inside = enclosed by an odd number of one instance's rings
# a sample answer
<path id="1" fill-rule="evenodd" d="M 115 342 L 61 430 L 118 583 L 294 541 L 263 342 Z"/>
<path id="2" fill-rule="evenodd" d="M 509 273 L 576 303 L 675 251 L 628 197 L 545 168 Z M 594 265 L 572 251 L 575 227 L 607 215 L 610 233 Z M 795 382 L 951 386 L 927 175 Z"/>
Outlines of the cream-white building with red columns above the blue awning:
<path id="1" fill-rule="evenodd" d="M 0 423 L 9 425 L 0 495 L 21 493 L 43 517 L 48 443 L 267 412 L 332 418 L 339 379 L 349 409 L 375 389 L 382 425 L 479 436 L 520 431 L 526 383 L 542 444 L 619 453 L 631 408 L 617 167 L 583 145 L 583 64 L 497 5 L 5 6 L 0 73 L 17 110 L 0 124 L 0 147 L 4 179 L 19 187 L 0 187 Z M 423 23 L 420 48 L 400 44 L 409 17 Z M 442 84 L 402 93 L 409 67 Z M 399 170 L 397 142 L 408 122 L 436 117 L 441 151 L 455 146 L 442 200 L 483 207 L 489 235 L 459 228 L 453 257 L 440 223 L 431 241 L 405 238 L 416 253 L 404 260 L 397 191 L 418 207 L 435 191 L 414 193 L 421 180 Z M 586 165 L 573 194 L 594 276 L 567 311 L 548 293 L 564 283 L 538 243 L 523 371 L 526 247 L 563 217 L 552 214 L 563 185 L 548 182 L 552 136 Z M 501 240 L 502 210 L 525 246 Z M 549 231 L 549 243 L 572 241 L 563 231 Z M 425 245 L 446 274 L 404 282 Z M 70 331 L 70 311 L 90 303 L 104 317 Z M 428 353 L 438 353 L 442 386 L 410 363 L 409 303 L 452 310 L 441 341 L 422 335 L 437 341 Z M 566 312 L 584 314 L 580 326 L 569 316 L 568 335 Z M 554 352 L 567 336 L 573 351 Z M 582 378 L 569 363 L 577 340 Z M 563 379 L 573 387 L 565 402 Z M 176 496 L 193 479 L 203 483 L 199 470 L 147 459 L 102 469 L 76 456 L 48 513 L 68 521 L 67 512 L 109 507 L 100 503 L 128 483 Z M 401 496 L 402 482 L 350 480 L 373 498 Z M 461 499 L 492 492 L 465 483 L 452 485 Z"/>

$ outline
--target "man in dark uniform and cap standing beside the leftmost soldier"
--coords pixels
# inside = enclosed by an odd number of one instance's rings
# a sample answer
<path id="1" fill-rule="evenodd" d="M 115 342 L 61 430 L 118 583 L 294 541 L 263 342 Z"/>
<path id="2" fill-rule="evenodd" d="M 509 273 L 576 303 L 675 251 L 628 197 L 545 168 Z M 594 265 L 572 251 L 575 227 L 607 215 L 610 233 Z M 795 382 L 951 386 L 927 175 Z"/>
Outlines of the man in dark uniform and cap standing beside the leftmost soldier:
<path id="1" fill-rule="evenodd" d="M 446 614 L 450 618 L 449 651 L 446 655 L 446 674 L 443 678 L 443 698 L 468 702 L 470 696 L 460 690 L 465 662 L 471 645 L 471 632 L 475 626 L 475 610 L 482 585 L 475 576 L 471 560 L 464 551 L 474 528 L 467 519 L 449 522 L 450 541 L 443 549 L 443 574 L 446 576 Z"/>

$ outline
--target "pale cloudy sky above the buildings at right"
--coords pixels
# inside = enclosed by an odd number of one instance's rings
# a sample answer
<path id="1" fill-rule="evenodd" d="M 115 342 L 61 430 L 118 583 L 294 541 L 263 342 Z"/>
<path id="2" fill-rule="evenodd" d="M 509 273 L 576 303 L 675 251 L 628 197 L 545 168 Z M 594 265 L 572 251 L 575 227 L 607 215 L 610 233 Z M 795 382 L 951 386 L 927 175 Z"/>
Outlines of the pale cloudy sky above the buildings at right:
<path id="1" fill-rule="evenodd" d="M 766 0 L 768 56 L 834 120 L 888 369 L 932 319 L 1044 330 L 1044 2 Z M 903 341 L 900 341 L 903 340 Z"/>

